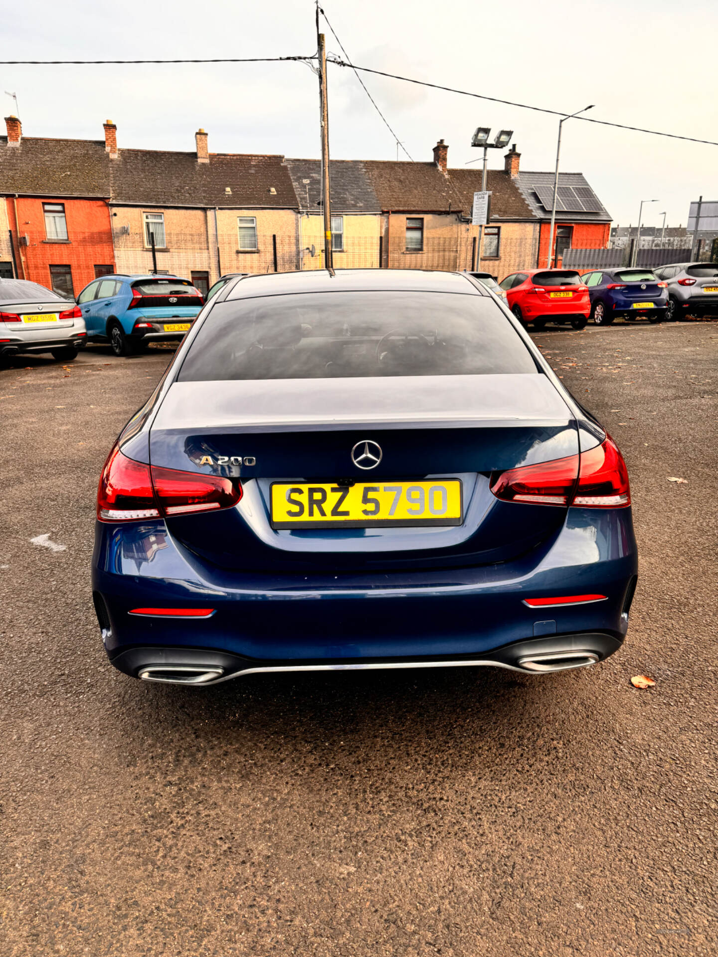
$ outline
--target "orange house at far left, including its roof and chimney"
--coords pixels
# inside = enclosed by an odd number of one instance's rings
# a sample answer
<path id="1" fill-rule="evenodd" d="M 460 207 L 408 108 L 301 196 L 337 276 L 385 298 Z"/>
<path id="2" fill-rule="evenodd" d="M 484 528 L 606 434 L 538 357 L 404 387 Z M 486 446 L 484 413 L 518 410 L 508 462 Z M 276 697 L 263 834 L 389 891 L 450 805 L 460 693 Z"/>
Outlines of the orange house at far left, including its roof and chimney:
<path id="1" fill-rule="evenodd" d="M 0 275 L 73 297 L 115 268 L 104 143 L 23 137 L 19 120 L 5 122 Z"/>

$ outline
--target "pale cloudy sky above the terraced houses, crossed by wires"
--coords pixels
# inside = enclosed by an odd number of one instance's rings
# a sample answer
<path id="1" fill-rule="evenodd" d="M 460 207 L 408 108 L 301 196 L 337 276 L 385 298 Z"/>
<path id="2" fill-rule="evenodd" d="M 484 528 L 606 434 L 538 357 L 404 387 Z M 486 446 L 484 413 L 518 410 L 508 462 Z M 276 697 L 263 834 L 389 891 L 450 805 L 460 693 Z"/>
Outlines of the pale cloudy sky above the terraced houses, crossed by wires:
<path id="1" fill-rule="evenodd" d="M 326 0 L 354 62 L 567 113 L 718 141 L 716 0 Z M 3 0 L 3 59 L 310 55 L 311 0 Z M 325 33 L 329 33 L 328 30 Z M 333 37 L 330 52 L 339 54 Z M 319 155 L 316 78 L 300 63 L 3 66 L 29 136 L 99 139 L 109 118 L 121 146 Z M 557 118 L 365 76 L 415 160 L 438 138 L 449 165 L 475 158 L 477 125 L 515 130 L 522 167 L 552 169 Z M 393 139 L 356 78 L 329 69 L 332 155 L 393 159 Z M 6 114 L 14 111 L 3 96 Z M 497 150 L 498 153 L 498 150 Z M 562 168 L 581 170 L 615 222 L 685 223 L 688 202 L 718 200 L 718 146 L 593 123 L 564 125 Z M 493 166 L 503 166 L 499 155 Z"/>

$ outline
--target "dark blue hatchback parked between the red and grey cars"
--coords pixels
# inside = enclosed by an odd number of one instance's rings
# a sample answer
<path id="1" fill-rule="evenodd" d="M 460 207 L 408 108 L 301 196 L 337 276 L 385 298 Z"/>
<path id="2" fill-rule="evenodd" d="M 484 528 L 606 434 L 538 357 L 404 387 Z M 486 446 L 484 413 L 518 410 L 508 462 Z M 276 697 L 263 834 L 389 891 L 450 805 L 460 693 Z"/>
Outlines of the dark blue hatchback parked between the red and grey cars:
<path id="1" fill-rule="evenodd" d="M 603 269 L 581 277 L 589 288 L 596 325 L 610 325 L 619 316 L 660 323 L 668 302 L 668 283 L 650 269 Z"/>

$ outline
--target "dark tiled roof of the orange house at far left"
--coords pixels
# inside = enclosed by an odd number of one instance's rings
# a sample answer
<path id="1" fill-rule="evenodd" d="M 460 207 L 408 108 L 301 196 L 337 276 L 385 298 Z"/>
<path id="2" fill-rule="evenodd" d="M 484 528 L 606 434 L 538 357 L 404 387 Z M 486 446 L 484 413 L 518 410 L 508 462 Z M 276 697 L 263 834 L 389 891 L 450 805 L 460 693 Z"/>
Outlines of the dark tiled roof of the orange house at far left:
<path id="1" fill-rule="evenodd" d="M 104 140 L 23 137 L 9 146 L 0 137 L 0 190 L 41 196 L 107 197 L 110 194 Z"/>

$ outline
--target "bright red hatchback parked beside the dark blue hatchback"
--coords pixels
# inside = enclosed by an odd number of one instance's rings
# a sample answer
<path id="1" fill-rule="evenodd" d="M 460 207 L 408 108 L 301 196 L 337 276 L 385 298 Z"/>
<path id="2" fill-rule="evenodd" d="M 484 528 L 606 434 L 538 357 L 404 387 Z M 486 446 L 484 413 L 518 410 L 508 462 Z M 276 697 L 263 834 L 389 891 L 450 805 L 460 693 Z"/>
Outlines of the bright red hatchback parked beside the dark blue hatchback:
<path id="1" fill-rule="evenodd" d="M 499 285 L 514 316 L 534 329 L 543 329 L 548 322 L 582 329 L 589 321 L 588 286 L 574 269 L 530 269 L 512 273 Z"/>

